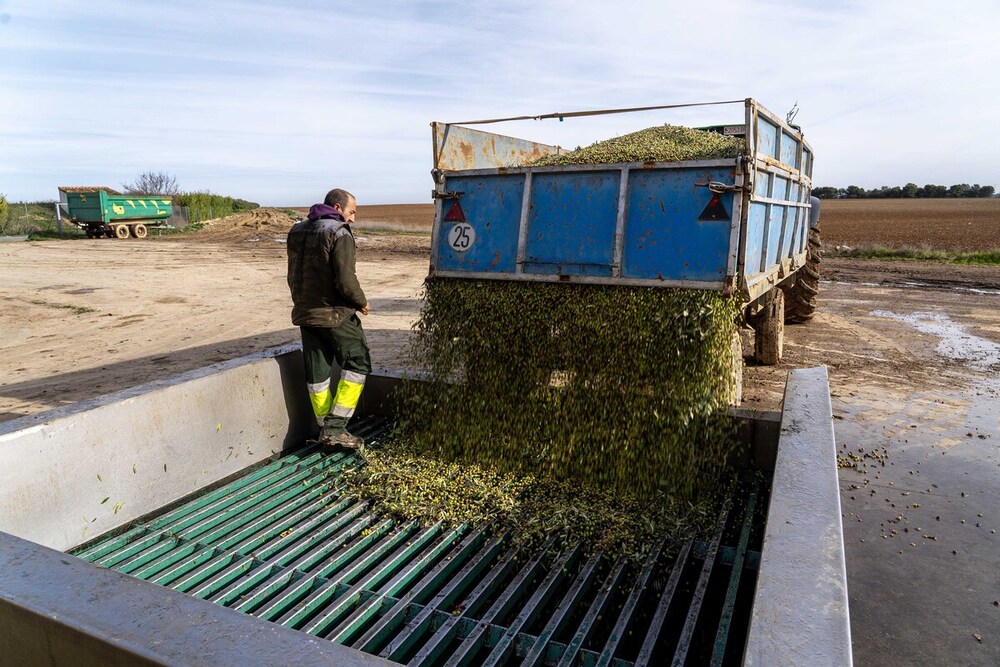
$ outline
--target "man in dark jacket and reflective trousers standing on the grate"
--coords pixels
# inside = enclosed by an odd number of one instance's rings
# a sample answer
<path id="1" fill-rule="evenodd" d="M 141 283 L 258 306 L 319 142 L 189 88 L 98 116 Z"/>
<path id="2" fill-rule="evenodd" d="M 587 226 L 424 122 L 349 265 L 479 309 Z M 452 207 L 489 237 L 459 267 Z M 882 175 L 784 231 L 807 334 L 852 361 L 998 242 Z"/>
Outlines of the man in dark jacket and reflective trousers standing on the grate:
<path id="1" fill-rule="evenodd" d="M 364 441 L 347 432 L 371 373 L 368 343 L 357 313 L 368 314 L 354 264 L 357 201 L 346 190 L 330 190 L 322 204 L 288 232 L 288 287 L 292 324 L 302 332 L 302 356 L 313 413 L 325 451 L 357 448 Z M 333 362 L 340 366 L 336 391 L 330 387 Z"/>

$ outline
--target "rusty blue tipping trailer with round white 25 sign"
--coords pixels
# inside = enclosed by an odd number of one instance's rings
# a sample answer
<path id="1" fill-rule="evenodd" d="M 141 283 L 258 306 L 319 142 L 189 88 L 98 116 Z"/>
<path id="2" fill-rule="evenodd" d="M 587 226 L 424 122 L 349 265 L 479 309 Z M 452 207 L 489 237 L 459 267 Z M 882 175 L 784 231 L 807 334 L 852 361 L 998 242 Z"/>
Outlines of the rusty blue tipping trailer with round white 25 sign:
<path id="1" fill-rule="evenodd" d="M 799 128 L 738 102 L 742 122 L 708 129 L 742 136 L 742 154 L 715 160 L 511 166 L 564 151 L 465 127 L 493 120 L 433 123 L 430 275 L 736 293 L 758 358 L 777 363 L 786 317 L 815 308 L 813 152 Z"/>

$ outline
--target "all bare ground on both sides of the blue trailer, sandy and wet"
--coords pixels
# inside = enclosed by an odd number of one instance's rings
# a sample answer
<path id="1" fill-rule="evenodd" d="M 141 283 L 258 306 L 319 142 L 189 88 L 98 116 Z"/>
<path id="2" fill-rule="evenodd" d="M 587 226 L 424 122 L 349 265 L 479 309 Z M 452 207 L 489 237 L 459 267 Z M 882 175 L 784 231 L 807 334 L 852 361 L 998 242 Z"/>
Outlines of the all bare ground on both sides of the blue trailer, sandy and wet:
<path id="1" fill-rule="evenodd" d="M 365 230 L 399 225 L 391 207 L 359 220 L 379 366 L 405 362 L 419 313 L 422 206 L 402 233 Z M 296 217 L 0 244 L 0 421 L 296 341 L 282 242 Z M 855 660 L 1000 664 L 1000 267 L 823 271 L 815 319 L 786 328 L 779 366 L 747 366 L 744 402 L 778 408 L 789 370 L 829 370 L 839 451 L 863 461 L 840 474 Z M 884 464 L 864 458 L 881 448 Z"/>

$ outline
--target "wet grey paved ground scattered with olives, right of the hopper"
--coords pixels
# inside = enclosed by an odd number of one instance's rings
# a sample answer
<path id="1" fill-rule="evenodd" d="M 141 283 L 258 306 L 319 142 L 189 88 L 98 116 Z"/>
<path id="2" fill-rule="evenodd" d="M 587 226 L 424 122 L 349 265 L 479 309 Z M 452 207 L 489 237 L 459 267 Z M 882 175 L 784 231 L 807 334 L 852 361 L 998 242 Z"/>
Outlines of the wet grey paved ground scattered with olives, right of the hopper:
<path id="1" fill-rule="evenodd" d="M 998 384 L 834 411 L 857 663 L 1000 664 Z"/>

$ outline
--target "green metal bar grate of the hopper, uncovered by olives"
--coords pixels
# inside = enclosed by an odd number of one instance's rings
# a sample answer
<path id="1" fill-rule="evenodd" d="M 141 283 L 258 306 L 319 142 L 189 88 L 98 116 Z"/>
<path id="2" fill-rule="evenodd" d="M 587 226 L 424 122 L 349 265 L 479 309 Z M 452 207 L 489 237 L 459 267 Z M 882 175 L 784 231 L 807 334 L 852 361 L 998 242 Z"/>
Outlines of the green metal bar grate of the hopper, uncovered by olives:
<path id="1" fill-rule="evenodd" d="M 377 441 L 387 422 L 353 430 Z M 306 447 L 74 555 L 410 665 L 741 660 L 766 485 L 742 490 L 707 542 L 629 566 L 380 517 L 344 492 L 357 462 Z"/>

